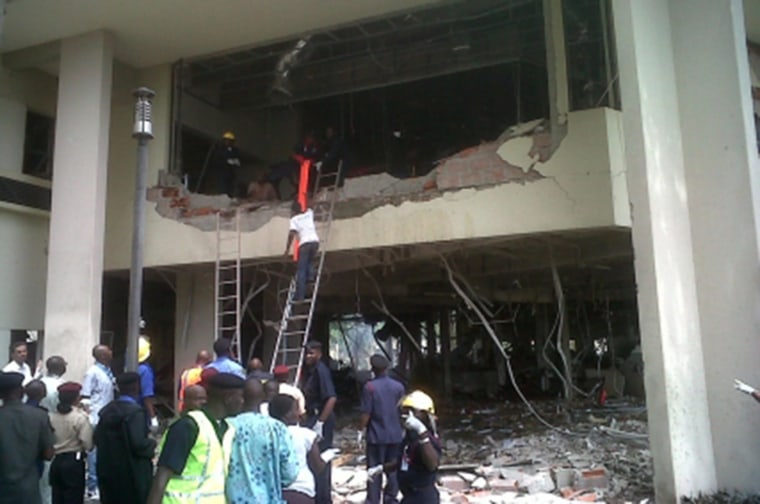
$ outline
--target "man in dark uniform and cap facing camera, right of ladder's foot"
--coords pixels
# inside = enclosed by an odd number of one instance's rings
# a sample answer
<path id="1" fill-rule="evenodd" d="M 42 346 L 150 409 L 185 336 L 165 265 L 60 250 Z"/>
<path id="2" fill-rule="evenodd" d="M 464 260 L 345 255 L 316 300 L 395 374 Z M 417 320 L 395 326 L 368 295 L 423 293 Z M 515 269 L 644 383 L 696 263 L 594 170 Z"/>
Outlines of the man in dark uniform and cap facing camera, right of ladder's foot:
<path id="1" fill-rule="evenodd" d="M 318 341 L 306 343 L 306 368 L 301 389 L 306 399 L 305 426 L 317 433 L 319 451 L 332 448 L 335 430 L 335 386 L 330 368 L 322 362 L 322 344 Z M 332 469 L 330 464 L 316 477 L 316 504 L 331 504 Z"/>

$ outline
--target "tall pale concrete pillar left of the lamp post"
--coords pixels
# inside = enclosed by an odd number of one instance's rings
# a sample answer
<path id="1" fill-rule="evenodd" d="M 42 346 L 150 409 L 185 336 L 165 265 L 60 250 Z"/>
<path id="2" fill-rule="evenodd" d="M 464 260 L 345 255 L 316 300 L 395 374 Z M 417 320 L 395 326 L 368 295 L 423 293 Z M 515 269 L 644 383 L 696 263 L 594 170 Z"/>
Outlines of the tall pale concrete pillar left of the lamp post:
<path id="1" fill-rule="evenodd" d="M 45 356 L 64 356 L 72 380 L 100 340 L 112 64 L 107 33 L 61 42 Z"/>

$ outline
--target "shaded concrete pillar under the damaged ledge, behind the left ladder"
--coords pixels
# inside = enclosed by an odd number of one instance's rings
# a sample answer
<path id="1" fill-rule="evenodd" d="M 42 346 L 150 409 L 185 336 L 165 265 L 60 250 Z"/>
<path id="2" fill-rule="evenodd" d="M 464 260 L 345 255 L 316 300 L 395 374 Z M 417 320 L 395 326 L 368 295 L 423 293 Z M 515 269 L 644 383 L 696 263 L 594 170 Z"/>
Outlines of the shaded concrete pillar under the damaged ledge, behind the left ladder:
<path id="1" fill-rule="evenodd" d="M 214 270 L 210 265 L 177 273 L 174 322 L 175 388 L 182 371 L 195 363 L 201 350 L 213 351 Z"/>

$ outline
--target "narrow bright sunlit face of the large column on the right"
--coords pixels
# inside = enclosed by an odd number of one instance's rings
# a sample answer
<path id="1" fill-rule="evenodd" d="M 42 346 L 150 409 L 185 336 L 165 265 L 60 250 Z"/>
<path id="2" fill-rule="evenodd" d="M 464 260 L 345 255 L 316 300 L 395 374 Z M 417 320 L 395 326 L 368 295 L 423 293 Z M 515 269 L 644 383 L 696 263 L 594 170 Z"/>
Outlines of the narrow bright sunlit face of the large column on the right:
<path id="1" fill-rule="evenodd" d="M 657 502 L 717 486 L 668 7 L 613 2 Z"/>

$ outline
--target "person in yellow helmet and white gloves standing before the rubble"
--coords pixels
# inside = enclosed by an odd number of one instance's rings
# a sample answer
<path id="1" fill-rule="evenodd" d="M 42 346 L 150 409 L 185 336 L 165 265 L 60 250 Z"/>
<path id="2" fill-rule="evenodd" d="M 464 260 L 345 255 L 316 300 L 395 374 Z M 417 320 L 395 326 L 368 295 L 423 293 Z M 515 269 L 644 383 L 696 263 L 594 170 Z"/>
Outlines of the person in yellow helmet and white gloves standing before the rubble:
<path id="1" fill-rule="evenodd" d="M 406 434 L 396 462 L 376 465 L 367 470 L 374 478 L 381 472 L 398 470 L 398 483 L 403 498 L 401 504 L 438 504 L 440 495 L 435 488 L 441 441 L 435 428 L 435 405 L 426 393 L 415 390 L 399 403 L 401 420 Z"/>

